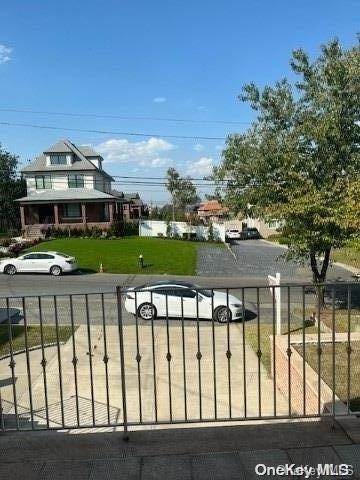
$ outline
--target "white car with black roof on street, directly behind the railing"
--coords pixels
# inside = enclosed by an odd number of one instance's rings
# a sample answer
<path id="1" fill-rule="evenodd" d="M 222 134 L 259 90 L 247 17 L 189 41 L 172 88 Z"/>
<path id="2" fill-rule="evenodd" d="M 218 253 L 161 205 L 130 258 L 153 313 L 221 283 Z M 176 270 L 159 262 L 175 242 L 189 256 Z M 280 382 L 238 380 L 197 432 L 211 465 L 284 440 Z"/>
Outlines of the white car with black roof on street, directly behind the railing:
<path id="1" fill-rule="evenodd" d="M 207 318 L 220 323 L 243 316 L 233 295 L 181 281 L 162 281 L 129 288 L 125 308 L 143 320 L 156 317 Z"/>

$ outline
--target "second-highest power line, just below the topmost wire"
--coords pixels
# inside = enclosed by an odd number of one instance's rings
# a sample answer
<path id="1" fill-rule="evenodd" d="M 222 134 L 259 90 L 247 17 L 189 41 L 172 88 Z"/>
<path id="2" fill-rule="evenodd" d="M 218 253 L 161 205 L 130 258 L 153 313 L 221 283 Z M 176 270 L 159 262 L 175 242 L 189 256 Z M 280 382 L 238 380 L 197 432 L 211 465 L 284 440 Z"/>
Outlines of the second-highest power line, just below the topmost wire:
<path id="1" fill-rule="evenodd" d="M 67 132 L 83 132 L 83 133 L 100 133 L 110 135 L 123 135 L 126 137 L 156 137 L 156 138 L 175 138 L 181 140 L 226 140 L 225 137 L 202 137 L 191 135 L 161 135 L 159 133 L 143 133 L 143 132 L 115 132 L 111 130 L 93 130 L 85 128 L 69 128 L 69 127 L 57 127 L 54 125 L 37 125 L 33 123 L 13 123 L 13 122 L 0 122 L 0 125 L 7 127 L 25 127 L 25 128 L 40 128 L 45 130 L 63 130 Z"/>

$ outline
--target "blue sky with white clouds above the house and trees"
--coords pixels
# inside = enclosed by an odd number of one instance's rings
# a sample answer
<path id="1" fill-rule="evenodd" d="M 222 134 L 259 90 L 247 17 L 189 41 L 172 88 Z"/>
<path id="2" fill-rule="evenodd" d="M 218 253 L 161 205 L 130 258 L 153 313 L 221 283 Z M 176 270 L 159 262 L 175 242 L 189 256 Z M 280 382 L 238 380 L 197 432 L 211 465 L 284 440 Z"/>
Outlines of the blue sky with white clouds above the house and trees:
<path id="1" fill-rule="evenodd" d="M 290 76 L 291 50 L 316 55 L 335 36 L 355 42 L 358 0 L 3 0 L 0 109 L 200 120 L 175 123 L 15 113 L 0 122 L 161 135 L 226 137 L 253 113 L 242 85 Z M 243 122 L 212 124 L 209 120 Z M 97 147 L 113 175 L 162 177 L 169 165 L 202 177 L 218 163 L 220 140 L 126 137 L 0 125 L 3 147 L 22 162 L 59 138 Z M 117 185 L 125 191 L 136 185 Z M 159 187 L 145 200 L 165 202 Z M 200 193 L 204 193 L 200 189 Z"/>

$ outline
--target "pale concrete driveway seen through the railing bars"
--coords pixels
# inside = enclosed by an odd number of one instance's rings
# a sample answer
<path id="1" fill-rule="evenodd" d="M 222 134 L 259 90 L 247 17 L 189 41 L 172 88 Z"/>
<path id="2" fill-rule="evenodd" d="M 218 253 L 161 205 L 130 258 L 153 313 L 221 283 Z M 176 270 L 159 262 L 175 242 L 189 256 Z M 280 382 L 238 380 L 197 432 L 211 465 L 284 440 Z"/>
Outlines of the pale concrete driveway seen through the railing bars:
<path id="1" fill-rule="evenodd" d="M 227 334 L 231 338 L 230 346 Z M 214 419 L 216 415 L 218 418 L 256 417 L 260 411 L 265 416 L 274 415 L 273 380 L 259 364 L 252 348 L 244 345 L 241 324 L 231 324 L 229 333 L 226 328 L 213 331 L 211 324 L 201 324 L 199 330 L 194 323 L 184 329 L 177 324 L 169 332 L 163 325 L 155 325 L 153 330 L 150 324 L 140 325 L 138 329 L 135 325 L 126 325 L 123 335 L 130 422 L 153 422 L 156 418 L 165 422 Z M 101 326 L 89 329 L 80 326 L 59 352 L 46 349 L 46 377 L 41 366 L 41 351 L 29 352 L 28 359 L 25 354 L 16 356 L 17 406 L 23 428 L 28 428 L 31 402 L 37 428 L 46 425 L 46 402 L 52 427 L 122 421 L 117 326 L 106 327 L 106 343 L 105 351 Z M 227 350 L 231 350 L 230 358 L 226 356 Z M 7 428 L 10 428 L 14 427 L 16 412 L 8 365 L 8 358 L 0 360 L 0 382 L 7 380 L 2 387 L 2 402 L 10 422 Z M 279 391 L 276 406 L 278 415 L 286 414 L 288 402 Z"/>

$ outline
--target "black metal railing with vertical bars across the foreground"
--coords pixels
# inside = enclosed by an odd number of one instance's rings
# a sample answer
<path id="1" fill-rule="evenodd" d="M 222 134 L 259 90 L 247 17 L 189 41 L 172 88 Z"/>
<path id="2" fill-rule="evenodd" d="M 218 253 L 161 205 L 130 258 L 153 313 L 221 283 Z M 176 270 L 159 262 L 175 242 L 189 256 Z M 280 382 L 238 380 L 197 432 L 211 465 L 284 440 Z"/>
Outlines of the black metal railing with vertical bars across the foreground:
<path id="1" fill-rule="evenodd" d="M 0 313 L 2 431 L 359 414 L 359 283 L 119 287 Z"/>

